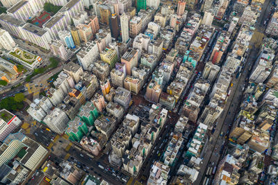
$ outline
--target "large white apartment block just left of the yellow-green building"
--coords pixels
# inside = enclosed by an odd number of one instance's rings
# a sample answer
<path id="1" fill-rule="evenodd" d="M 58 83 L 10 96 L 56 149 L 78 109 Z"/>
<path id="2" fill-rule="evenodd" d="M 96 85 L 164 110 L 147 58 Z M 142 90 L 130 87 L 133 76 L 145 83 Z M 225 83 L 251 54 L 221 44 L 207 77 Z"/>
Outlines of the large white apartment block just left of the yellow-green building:
<path id="1" fill-rule="evenodd" d="M 97 44 L 93 41 L 87 42 L 81 51 L 76 54 L 76 57 L 83 69 L 87 70 L 90 64 L 99 58 L 99 49 Z"/>

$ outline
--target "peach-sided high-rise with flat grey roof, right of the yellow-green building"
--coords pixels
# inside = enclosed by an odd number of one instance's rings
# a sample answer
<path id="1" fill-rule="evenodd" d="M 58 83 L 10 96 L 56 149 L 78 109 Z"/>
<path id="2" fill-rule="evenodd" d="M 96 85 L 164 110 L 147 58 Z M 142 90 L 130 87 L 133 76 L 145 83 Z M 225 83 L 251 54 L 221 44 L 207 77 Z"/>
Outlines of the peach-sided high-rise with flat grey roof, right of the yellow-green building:
<path id="1" fill-rule="evenodd" d="M 121 62 L 126 64 L 126 74 L 131 76 L 132 68 L 137 67 L 138 64 L 138 51 L 129 48 L 126 53 L 122 55 Z"/>

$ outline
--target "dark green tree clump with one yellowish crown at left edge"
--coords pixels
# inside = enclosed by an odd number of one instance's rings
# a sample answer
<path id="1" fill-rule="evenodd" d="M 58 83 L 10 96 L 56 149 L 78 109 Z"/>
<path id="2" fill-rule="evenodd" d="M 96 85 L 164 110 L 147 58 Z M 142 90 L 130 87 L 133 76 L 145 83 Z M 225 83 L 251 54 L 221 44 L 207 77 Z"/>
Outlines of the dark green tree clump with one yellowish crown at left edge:
<path id="1" fill-rule="evenodd" d="M 15 96 L 4 98 L 0 101 L 0 108 L 7 109 L 8 111 L 16 111 L 22 109 L 24 106 L 23 104 L 24 99 L 25 96 L 22 93 L 15 94 Z"/>

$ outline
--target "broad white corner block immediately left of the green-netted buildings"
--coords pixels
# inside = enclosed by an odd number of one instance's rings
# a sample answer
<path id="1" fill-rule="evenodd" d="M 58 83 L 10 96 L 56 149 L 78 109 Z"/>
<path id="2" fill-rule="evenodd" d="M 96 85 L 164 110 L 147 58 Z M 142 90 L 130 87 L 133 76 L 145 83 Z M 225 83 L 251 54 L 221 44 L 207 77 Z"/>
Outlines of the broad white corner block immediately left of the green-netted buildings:
<path id="1" fill-rule="evenodd" d="M 63 134 L 69 121 L 67 114 L 57 107 L 44 118 L 44 123 L 58 134 Z"/>

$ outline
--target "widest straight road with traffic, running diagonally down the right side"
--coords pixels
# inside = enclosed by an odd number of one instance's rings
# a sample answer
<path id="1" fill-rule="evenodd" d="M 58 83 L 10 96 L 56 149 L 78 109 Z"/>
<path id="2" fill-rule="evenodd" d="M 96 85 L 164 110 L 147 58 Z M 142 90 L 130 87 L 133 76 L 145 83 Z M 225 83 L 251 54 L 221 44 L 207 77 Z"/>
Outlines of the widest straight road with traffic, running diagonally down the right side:
<path id="1" fill-rule="evenodd" d="M 268 7 L 269 4 L 270 0 L 265 1 L 265 3 L 263 4 L 261 16 L 257 21 L 256 28 L 263 27 L 262 24 L 265 14 L 268 14 L 268 12 L 270 11 L 270 8 Z M 250 69 L 250 66 L 254 64 L 259 53 L 259 48 L 255 48 L 254 45 L 255 43 L 250 42 L 250 46 L 252 46 L 252 49 L 249 51 L 249 53 L 247 53 L 247 62 L 245 62 L 244 67 L 241 70 L 240 77 L 234 78 L 232 80 L 234 87 L 231 88 L 231 94 L 227 99 L 227 103 L 224 107 L 222 115 L 220 116 L 220 118 L 218 118 L 218 124 L 215 127 L 215 132 L 211 134 L 211 142 L 209 142 L 208 146 L 204 149 L 206 155 L 202 160 L 203 164 L 201 165 L 201 168 L 199 170 L 199 175 L 194 182 L 194 184 L 196 185 L 202 184 L 208 167 L 213 168 L 214 166 L 218 166 L 218 162 L 220 161 L 220 159 L 222 159 L 220 150 L 222 146 L 223 148 L 225 148 L 225 143 L 227 143 L 227 140 L 225 140 L 224 136 L 225 134 L 229 133 L 228 130 L 230 131 L 232 127 L 236 126 L 234 125 L 234 118 L 238 113 L 238 109 L 242 101 L 242 89 L 243 87 L 246 87 L 245 79 L 248 78 L 250 74 L 250 71 L 248 69 Z M 224 133 L 223 136 L 220 136 L 221 132 Z M 208 178 L 209 177 L 210 176 L 208 176 Z M 213 178 L 213 175 L 211 175 L 211 178 Z"/>

